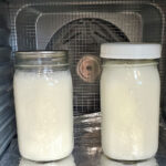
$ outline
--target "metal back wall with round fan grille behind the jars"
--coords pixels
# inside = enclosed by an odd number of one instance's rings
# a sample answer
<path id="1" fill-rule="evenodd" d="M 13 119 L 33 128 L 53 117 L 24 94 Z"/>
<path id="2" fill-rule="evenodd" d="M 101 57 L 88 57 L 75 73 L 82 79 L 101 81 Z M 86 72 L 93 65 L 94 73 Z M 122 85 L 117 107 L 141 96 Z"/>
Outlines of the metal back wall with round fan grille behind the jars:
<path id="1" fill-rule="evenodd" d="M 165 96 L 163 0 L 9 1 L 13 51 L 69 50 L 74 113 L 100 111 L 100 45 L 105 42 L 162 42 L 162 106 Z"/>

